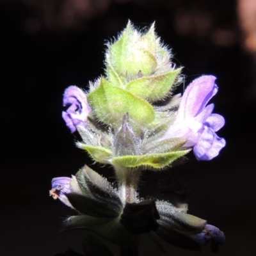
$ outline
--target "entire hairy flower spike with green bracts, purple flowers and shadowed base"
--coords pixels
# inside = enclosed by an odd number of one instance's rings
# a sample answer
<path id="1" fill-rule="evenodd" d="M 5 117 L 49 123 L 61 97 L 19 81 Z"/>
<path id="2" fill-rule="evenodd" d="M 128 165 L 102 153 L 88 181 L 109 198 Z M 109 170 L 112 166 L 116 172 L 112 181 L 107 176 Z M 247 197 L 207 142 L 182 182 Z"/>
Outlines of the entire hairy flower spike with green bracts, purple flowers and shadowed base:
<path id="1" fill-rule="evenodd" d="M 84 239 L 86 255 L 113 255 L 97 247 L 97 237 L 104 237 L 121 246 L 121 255 L 136 256 L 143 233 L 161 248 L 163 240 L 189 250 L 211 242 L 216 252 L 225 235 L 187 213 L 182 189 L 172 191 L 169 201 L 144 200 L 137 192 L 144 170 L 162 172 L 192 149 L 196 159 L 211 160 L 225 147 L 216 134 L 225 120 L 209 104 L 218 92 L 216 77 L 199 77 L 182 96 L 175 95 L 182 67 L 175 67 L 155 24 L 140 31 L 130 21 L 107 44 L 104 64 L 104 76 L 89 83 L 88 93 L 77 86 L 65 90 L 62 116 L 70 131 L 81 136 L 77 147 L 93 161 L 111 165 L 116 182 L 110 184 L 89 166 L 71 178 L 54 178 L 52 198 L 78 212 L 65 221 L 65 230 L 83 228 L 93 234 Z"/>

